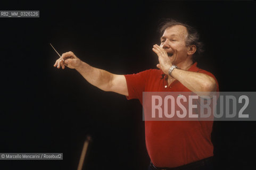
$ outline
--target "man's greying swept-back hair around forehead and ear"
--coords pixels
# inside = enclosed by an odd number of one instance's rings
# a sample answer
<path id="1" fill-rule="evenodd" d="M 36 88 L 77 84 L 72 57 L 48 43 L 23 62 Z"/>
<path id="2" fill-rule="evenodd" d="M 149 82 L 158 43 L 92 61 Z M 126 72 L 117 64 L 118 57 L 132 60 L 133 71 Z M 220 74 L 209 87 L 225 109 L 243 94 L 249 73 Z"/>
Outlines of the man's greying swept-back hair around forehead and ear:
<path id="1" fill-rule="evenodd" d="M 159 33 L 160 37 L 163 35 L 163 32 L 174 25 L 183 25 L 187 29 L 187 37 L 186 37 L 186 46 L 189 45 L 195 45 L 196 46 L 196 52 L 193 55 L 193 61 L 196 61 L 196 59 L 202 54 L 203 50 L 203 43 L 199 40 L 199 33 L 197 30 L 190 25 L 187 25 L 183 22 L 178 22 L 173 19 L 165 19 L 159 27 Z"/>

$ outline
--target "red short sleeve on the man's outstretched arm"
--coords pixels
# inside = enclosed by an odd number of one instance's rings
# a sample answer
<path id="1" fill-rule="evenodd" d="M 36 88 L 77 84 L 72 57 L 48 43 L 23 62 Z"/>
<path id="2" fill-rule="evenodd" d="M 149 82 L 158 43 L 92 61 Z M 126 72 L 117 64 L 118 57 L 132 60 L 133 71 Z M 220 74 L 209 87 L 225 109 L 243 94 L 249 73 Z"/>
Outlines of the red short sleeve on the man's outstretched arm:
<path id="1" fill-rule="evenodd" d="M 142 94 L 145 91 L 145 85 L 149 70 L 139 72 L 136 74 L 126 74 L 126 83 L 128 88 L 127 99 L 139 99 L 142 101 Z"/>

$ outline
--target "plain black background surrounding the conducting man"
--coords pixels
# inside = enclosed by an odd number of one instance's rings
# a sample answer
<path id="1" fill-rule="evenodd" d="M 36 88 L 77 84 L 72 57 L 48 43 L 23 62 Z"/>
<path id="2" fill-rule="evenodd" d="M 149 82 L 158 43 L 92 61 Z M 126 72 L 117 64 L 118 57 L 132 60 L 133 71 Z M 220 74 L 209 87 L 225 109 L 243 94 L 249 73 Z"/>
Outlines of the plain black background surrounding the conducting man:
<path id="1" fill-rule="evenodd" d="M 87 134 L 93 142 L 85 169 L 145 169 L 150 161 L 139 101 L 56 69 L 49 43 L 112 73 L 136 73 L 156 68 L 158 24 L 174 18 L 199 30 L 205 44 L 199 66 L 216 76 L 220 91 L 256 91 L 253 1 L 12 2 L 0 9 L 40 10 L 40 18 L 0 18 L 0 152 L 64 155 L 5 160 L 1 169 L 76 169 Z M 219 169 L 253 167 L 255 136 L 255 122 L 214 122 Z"/>

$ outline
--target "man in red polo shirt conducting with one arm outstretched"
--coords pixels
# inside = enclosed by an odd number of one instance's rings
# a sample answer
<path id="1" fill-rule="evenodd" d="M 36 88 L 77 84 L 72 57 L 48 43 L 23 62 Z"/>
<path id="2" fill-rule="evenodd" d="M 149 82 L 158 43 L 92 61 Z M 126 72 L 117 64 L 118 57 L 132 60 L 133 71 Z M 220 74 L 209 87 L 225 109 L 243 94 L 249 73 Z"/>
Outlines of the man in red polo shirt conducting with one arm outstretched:
<path id="1" fill-rule="evenodd" d="M 117 75 L 79 60 L 72 52 L 62 54 L 54 67 L 76 69 L 89 83 L 104 90 L 143 101 L 143 91 L 218 91 L 214 76 L 199 69 L 194 57 L 201 51 L 197 31 L 168 20 L 162 24 L 161 44 L 152 50 L 159 69 Z M 149 169 L 211 169 L 212 121 L 145 121 L 145 139 L 151 159 Z"/>

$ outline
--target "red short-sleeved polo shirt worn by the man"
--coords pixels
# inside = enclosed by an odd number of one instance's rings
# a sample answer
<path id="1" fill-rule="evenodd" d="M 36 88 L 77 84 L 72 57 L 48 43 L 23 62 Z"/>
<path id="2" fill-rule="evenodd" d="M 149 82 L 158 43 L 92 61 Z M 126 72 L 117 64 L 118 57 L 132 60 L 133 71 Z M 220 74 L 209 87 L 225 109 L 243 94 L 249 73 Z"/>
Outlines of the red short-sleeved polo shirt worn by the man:
<path id="1" fill-rule="evenodd" d="M 188 71 L 200 72 L 194 63 Z M 157 69 L 125 75 L 129 96 L 143 102 L 143 91 L 191 91 L 175 80 L 168 87 L 163 72 Z M 216 80 L 217 82 L 217 80 Z M 218 83 L 217 83 L 218 85 Z M 217 86 L 217 90 L 218 86 Z M 145 121 L 148 155 L 157 167 L 177 167 L 213 156 L 212 121 Z"/>

